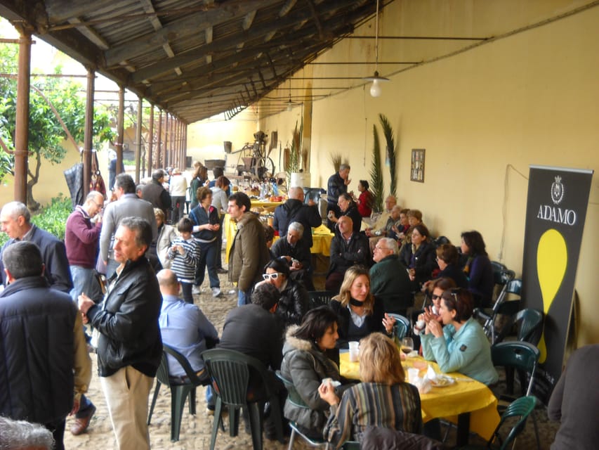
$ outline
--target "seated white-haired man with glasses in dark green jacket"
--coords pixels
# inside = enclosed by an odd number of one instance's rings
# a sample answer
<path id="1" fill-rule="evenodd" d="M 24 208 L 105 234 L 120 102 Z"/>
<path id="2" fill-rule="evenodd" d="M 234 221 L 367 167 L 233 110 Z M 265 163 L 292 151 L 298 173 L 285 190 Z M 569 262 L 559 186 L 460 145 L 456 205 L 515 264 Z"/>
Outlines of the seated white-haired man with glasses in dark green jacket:
<path id="1" fill-rule="evenodd" d="M 374 246 L 374 266 L 370 268 L 370 292 L 383 301 L 385 312 L 406 315 L 414 304 L 412 282 L 400 261 L 397 241 L 380 238 Z"/>

